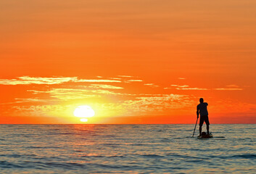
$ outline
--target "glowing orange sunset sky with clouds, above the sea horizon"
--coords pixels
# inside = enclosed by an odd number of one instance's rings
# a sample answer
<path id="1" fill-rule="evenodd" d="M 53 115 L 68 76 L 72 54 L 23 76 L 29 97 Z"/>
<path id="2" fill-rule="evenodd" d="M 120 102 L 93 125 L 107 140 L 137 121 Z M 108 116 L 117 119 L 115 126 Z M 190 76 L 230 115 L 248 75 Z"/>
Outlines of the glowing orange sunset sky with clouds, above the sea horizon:
<path id="1" fill-rule="evenodd" d="M 256 123 L 256 1 L 0 0 L 0 123 Z"/>

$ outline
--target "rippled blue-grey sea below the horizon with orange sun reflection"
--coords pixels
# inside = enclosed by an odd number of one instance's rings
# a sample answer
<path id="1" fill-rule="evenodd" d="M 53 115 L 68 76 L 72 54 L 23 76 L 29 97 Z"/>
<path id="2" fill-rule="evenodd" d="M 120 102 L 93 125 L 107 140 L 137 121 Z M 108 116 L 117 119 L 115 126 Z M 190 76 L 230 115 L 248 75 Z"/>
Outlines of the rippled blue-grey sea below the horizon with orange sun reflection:
<path id="1" fill-rule="evenodd" d="M 0 125 L 0 173 L 256 173 L 255 128 Z"/>

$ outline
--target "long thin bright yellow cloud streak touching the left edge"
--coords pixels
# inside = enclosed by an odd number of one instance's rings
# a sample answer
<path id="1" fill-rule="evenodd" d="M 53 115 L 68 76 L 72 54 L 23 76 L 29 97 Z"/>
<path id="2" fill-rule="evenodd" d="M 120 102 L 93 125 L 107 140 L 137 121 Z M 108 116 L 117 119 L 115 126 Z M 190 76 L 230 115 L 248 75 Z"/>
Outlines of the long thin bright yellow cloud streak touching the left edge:
<path id="1" fill-rule="evenodd" d="M 22 76 L 17 79 L 0 79 L 1 85 L 30 85 L 30 84 L 46 84 L 54 85 L 69 81 L 77 80 L 77 77 L 54 77 L 54 78 L 32 78 L 29 76 Z"/>

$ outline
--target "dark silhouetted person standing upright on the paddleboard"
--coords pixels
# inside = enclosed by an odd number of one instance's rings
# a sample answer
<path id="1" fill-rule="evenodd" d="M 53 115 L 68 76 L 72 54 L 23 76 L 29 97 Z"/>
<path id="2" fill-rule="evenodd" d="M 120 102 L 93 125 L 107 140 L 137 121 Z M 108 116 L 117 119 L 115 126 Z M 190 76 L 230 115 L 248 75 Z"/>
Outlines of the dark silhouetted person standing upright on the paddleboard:
<path id="1" fill-rule="evenodd" d="M 200 104 L 197 105 L 197 118 L 199 117 L 200 113 L 200 123 L 199 123 L 199 136 L 201 136 L 202 133 L 202 125 L 206 124 L 207 126 L 207 134 L 209 134 L 209 118 L 208 118 L 208 111 L 207 111 L 207 106 L 208 104 L 204 102 L 204 99 L 199 99 Z"/>

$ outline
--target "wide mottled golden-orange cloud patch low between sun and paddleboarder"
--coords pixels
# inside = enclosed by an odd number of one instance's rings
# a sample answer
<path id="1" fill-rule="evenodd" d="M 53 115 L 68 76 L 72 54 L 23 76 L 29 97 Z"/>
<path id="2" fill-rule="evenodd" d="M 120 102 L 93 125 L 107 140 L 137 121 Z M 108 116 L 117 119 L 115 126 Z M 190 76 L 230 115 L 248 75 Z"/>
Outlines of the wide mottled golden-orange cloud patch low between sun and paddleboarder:
<path id="1" fill-rule="evenodd" d="M 178 94 L 139 94 L 131 99 L 97 104 L 97 108 L 102 110 L 102 115 L 162 115 L 170 109 L 189 106 L 192 102 L 188 99 L 189 96 Z"/>

